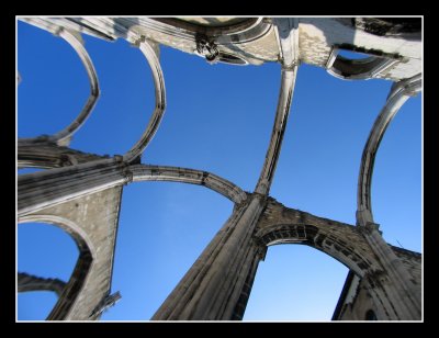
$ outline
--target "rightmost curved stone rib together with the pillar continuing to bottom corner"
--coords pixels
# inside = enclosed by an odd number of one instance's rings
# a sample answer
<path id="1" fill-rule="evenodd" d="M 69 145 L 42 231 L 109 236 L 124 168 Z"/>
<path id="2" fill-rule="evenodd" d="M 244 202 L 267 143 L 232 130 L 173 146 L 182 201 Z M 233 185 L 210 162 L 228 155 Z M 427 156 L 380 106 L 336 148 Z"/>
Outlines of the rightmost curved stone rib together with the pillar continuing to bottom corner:
<path id="1" fill-rule="evenodd" d="M 384 269 L 384 272 L 379 275 L 367 275 L 367 281 L 376 307 L 383 311 L 382 315 L 385 319 L 391 320 L 420 320 L 421 294 L 420 289 L 410 281 L 412 277 L 407 269 L 385 243 L 378 230 L 378 224 L 373 221 L 372 174 L 376 151 L 387 126 L 405 101 L 420 90 L 420 74 L 393 84 L 364 146 L 358 180 L 357 225 Z"/>

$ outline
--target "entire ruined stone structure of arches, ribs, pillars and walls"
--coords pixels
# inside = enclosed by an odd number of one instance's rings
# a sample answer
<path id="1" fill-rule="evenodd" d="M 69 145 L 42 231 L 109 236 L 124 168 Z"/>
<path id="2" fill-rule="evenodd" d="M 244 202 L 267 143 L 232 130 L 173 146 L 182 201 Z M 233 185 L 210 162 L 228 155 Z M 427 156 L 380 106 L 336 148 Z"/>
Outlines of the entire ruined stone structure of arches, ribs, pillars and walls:
<path id="1" fill-rule="evenodd" d="M 64 228 L 80 255 L 69 281 L 19 273 L 18 292 L 52 290 L 58 302 L 49 320 L 97 320 L 120 297 L 110 295 L 122 189 L 138 181 L 200 184 L 235 203 L 154 320 L 241 319 L 267 247 L 304 244 L 349 268 L 335 320 L 420 320 L 421 256 L 386 244 L 371 205 L 373 164 L 386 127 L 404 102 L 421 90 L 420 18 L 20 18 L 69 43 L 82 60 L 90 97 L 78 117 L 52 136 L 18 140 L 18 167 L 46 170 L 18 178 L 18 223 L 46 222 Z M 99 82 L 81 34 L 137 46 L 151 68 L 156 105 L 140 139 L 124 155 L 85 154 L 68 147 L 87 121 Z M 159 45 L 209 63 L 282 66 L 270 144 L 254 192 L 214 173 L 140 162 L 166 106 Z M 340 50 L 368 54 L 348 59 Z M 326 68 L 340 79 L 394 81 L 365 142 L 358 180 L 357 224 L 326 219 L 269 196 L 293 98 L 297 67 Z M 352 211 L 353 212 L 353 211 Z"/>

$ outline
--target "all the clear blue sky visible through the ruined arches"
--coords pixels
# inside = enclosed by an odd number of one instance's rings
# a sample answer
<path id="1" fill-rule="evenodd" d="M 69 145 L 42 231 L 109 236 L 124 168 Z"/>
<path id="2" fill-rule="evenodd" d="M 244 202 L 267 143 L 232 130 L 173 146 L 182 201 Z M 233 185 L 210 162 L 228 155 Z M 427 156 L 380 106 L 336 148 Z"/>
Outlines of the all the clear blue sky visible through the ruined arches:
<path id="1" fill-rule="evenodd" d="M 71 148 L 123 155 L 154 108 L 146 59 L 125 41 L 83 36 L 101 97 Z M 280 65 L 209 65 L 160 47 L 167 110 L 142 162 L 214 172 L 252 191 L 274 121 Z M 50 33 L 18 23 L 18 135 L 54 134 L 89 95 L 75 50 Z M 344 81 L 302 65 L 270 195 L 286 206 L 354 224 L 361 153 L 390 81 Z M 19 174 L 31 172 L 20 170 Z M 386 241 L 421 251 L 421 95 L 392 121 L 372 183 L 374 219 Z M 122 300 L 103 320 L 148 320 L 232 213 L 203 187 L 140 182 L 124 188 L 112 292 Z M 68 281 L 78 250 L 47 224 L 18 226 L 18 270 Z M 245 320 L 329 320 L 348 269 L 301 245 L 273 246 L 259 264 Z M 50 292 L 18 295 L 19 319 L 44 319 Z"/>

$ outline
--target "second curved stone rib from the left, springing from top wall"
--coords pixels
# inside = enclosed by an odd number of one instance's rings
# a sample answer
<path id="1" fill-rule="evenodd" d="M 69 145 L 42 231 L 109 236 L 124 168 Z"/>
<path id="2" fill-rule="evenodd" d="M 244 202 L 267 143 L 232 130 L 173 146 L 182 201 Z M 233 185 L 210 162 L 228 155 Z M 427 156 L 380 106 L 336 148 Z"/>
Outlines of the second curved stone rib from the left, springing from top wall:
<path id="1" fill-rule="evenodd" d="M 140 139 L 124 155 L 123 159 L 126 162 L 132 162 L 134 159 L 142 155 L 142 153 L 145 150 L 145 148 L 156 134 L 165 113 L 165 79 L 161 71 L 160 61 L 158 59 L 158 53 L 155 50 L 155 47 L 156 46 L 153 45 L 153 43 L 146 41 L 139 42 L 139 48 L 148 60 L 149 67 L 153 72 L 156 92 L 156 108 L 154 109 L 153 116 L 150 117 L 149 123 Z"/>

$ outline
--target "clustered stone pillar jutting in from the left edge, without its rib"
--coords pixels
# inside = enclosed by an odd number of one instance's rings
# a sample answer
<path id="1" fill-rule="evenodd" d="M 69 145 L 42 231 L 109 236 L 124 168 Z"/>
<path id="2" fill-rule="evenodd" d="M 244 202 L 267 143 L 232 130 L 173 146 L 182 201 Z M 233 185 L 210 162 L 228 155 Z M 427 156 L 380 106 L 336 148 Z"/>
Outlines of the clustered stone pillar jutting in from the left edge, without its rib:
<path id="1" fill-rule="evenodd" d="M 18 216 L 122 185 L 130 180 L 122 156 L 21 174 L 18 178 Z"/>

